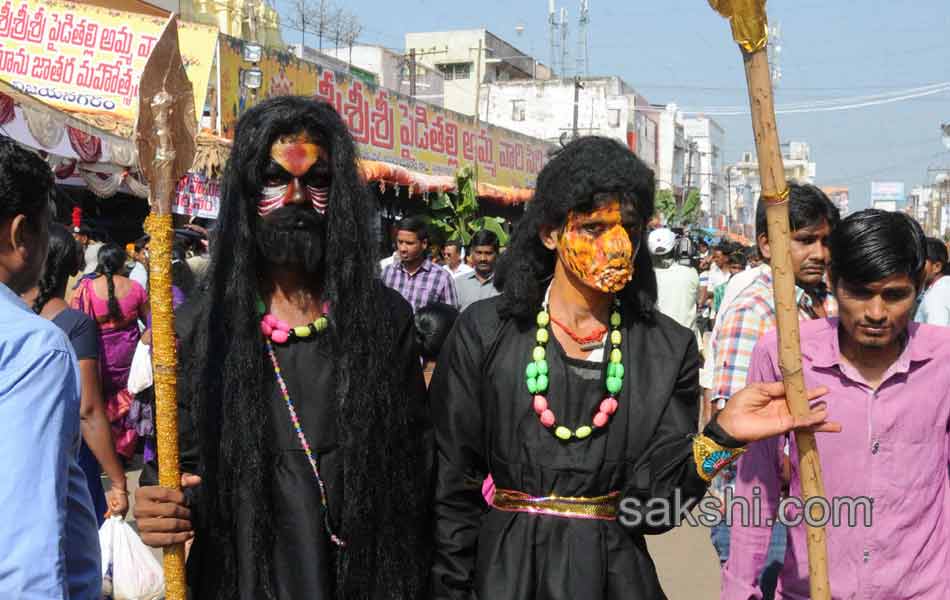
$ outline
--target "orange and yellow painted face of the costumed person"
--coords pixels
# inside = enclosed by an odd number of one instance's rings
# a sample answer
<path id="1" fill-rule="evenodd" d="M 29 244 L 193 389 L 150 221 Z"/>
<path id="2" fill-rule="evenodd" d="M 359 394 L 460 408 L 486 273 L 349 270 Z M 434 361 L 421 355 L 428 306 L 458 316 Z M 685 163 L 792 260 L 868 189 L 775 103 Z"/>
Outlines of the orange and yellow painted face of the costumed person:
<path id="1" fill-rule="evenodd" d="M 619 292 L 633 278 L 635 251 L 618 200 L 591 212 L 572 210 L 558 237 L 558 255 L 568 269 L 608 294 Z"/>

